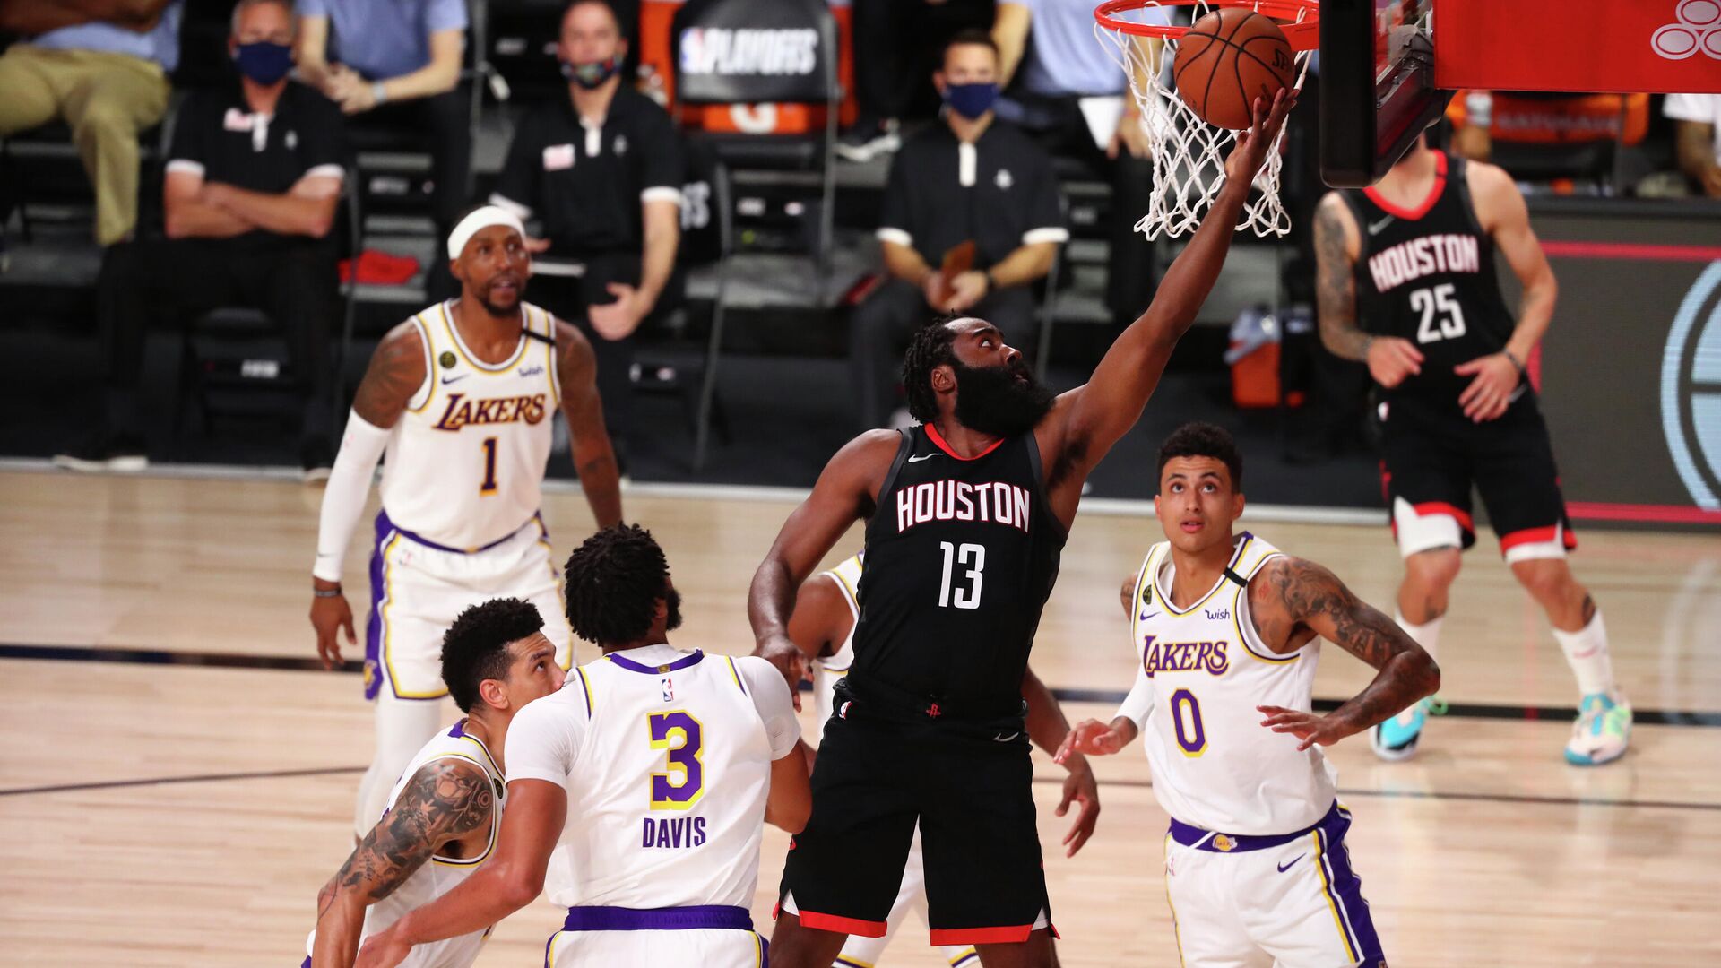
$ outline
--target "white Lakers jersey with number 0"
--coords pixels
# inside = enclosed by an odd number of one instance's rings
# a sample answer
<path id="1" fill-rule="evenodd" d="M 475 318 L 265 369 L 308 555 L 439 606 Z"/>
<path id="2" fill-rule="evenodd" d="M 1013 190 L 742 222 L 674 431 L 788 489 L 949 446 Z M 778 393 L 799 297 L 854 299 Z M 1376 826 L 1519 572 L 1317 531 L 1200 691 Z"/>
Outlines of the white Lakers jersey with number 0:
<path id="1" fill-rule="evenodd" d="M 1248 582 L 1282 553 L 1243 532 L 1227 572 Z M 1249 618 L 1248 587 L 1220 575 L 1189 608 L 1170 601 L 1170 543 L 1148 551 L 1136 577 L 1131 630 L 1153 680 L 1143 734 L 1153 796 L 1165 813 L 1225 834 L 1289 834 L 1320 820 L 1335 797 L 1318 746 L 1272 732 L 1256 706 L 1308 710 L 1320 639 L 1274 655 Z"/>

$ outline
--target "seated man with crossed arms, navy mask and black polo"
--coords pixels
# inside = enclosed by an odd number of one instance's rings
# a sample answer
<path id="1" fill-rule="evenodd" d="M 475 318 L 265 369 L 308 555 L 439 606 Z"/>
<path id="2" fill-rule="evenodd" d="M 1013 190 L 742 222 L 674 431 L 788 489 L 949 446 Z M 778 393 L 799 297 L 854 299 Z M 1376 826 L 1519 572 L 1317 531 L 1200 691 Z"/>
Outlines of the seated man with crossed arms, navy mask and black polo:
<path id="1" fill-rule="evenodd" d="M 301 460 L 306 477 L 327 477 L 329 326 L 339 312 L 329 229 L 341 196 L 341 112 L 287 79 L 287 0 L 239 0 L 227 48 L 239 83 L 193 91 L 174 124 L 162 193 L 167 238 L 117 245 L 102 262 L 107 420 L 55 456 L 60 467 L 141 470 L 148 462 L 138 384 L 148 324 L 248 305 L 287 336 L 303 401 Z"/>

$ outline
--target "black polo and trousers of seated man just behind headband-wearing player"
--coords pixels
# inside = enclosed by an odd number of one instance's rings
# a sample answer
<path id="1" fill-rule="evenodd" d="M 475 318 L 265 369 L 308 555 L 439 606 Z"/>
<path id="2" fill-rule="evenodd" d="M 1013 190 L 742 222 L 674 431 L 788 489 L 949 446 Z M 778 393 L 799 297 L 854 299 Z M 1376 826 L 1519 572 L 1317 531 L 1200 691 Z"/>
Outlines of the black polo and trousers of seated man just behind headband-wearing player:
<path id="1" fill-rule="evenodd" d="M 597 393 L 621 446 L 632 412 L 633 336 L 604 339 L 587 308 L 613 303 L 611 282 L 638 286 L 647 202 L 682 202 L 682 140 L 668 112 L 621 84 L 601 126 L 566 96 L 520 122 L 490 203 L 540 222 L 551 246 L 532 258 L 532 300 L 575 324 L 597 355 Z M 657 310 L 675 301 L 671 286 Z"/>

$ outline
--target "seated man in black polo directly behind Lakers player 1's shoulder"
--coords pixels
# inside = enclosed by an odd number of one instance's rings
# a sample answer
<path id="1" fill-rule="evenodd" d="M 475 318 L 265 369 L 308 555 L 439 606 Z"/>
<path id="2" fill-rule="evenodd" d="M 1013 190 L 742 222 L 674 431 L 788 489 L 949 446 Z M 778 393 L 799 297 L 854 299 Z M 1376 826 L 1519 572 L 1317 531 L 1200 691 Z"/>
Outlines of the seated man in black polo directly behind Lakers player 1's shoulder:
<path id="1" fill-rule="evenodd" d="M 633 332 L 657 308 L 682 243 L 685 162 L 669 114 L 621 83 L 626 40 L 602 0 L 575 0 L 556 45 L 568 96 L 515 129 L 492 205 L 535 219 L 532 301 L 597 353 L 597 391 L 626 455 Z"/>

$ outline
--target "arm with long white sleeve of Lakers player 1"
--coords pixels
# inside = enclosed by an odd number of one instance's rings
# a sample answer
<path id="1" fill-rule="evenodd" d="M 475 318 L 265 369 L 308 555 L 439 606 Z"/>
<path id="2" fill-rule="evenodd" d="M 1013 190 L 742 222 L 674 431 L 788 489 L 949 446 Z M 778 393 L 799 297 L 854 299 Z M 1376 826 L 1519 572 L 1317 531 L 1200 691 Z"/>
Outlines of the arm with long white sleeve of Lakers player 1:
<path id="1" fill-rule="evenodd" d="M 423 336 L 416 326 L 403 322 L 377 343 L 365 379 L 353 394 L 353 413 L 346 420 L 341 453 L 324 486 L 317 562 L 312 565 L 312 587 L 317 593 L 312 598 L 312 629 L 317 630 L 317 655 L 322 656 L 324 668 L 341 663 L 339 632 L 346 632 L 346 644 L 358 644 L 353 636 L 353 606 L 341 593 L 341 562 L 353 541 L 353 529 L 365 513 L 370 479 L 389 443 L 389 431 L 427 375 Z"/>

